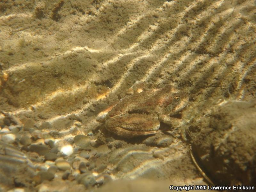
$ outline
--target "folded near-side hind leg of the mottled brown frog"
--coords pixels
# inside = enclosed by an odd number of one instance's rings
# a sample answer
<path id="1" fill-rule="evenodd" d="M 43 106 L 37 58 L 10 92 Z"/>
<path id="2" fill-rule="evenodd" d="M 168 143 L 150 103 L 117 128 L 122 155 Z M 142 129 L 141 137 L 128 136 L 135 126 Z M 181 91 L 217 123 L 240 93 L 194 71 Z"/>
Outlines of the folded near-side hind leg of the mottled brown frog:
<path id="1" fill-rule="evenodd" d="M 146 114 L 127 114 L 109 118 L 105 122 L 108 131 L 124 138 L 155 134 L 159 126 L 156 117 Z"/>

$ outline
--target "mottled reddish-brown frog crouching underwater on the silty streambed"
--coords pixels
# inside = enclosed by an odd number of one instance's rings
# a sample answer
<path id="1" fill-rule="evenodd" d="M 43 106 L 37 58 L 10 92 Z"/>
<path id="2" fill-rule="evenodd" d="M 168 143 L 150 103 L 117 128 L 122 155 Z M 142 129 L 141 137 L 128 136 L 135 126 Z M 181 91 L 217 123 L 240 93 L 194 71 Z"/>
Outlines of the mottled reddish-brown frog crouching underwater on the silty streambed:
<path id="1" fill-rule="evenodd" d="M 106 130 L 129 139 L 154 135 L 161 123 L 172 126 L 177 122 L 173 116 L 184 110 L 188 94 L 169 84 L 153 89 L 142 89 L 141 84 L 136 82 L 132 94 L 97 115 L 96 120 L 104 123 Z"/>

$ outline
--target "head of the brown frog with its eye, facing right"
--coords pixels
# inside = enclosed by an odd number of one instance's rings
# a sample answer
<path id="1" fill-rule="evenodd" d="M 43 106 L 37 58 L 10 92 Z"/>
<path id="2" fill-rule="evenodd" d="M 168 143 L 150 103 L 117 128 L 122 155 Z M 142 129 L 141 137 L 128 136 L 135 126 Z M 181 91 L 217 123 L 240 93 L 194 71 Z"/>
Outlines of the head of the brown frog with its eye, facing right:
<path id="1" fill-rule="evenodd" d="M 179 113 L 188 105 L 188 95 L 186 93 L 172 93 L 170 103 L 166 106 L 170 113 Z"/>

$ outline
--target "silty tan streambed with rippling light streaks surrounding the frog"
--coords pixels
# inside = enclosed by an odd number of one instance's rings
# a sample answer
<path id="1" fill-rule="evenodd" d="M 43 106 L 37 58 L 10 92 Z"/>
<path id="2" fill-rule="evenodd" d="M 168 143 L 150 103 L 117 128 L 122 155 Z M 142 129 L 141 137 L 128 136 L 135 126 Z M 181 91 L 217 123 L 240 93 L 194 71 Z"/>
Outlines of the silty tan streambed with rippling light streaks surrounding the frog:
<path id="1" fill-rule="evenodd" d="M 74 137 L 86 135 L 90 145 L 84 150 L 103 154 L 92 153 L 88 160 L 106 165 L 101 173 L 97 166 L 91 170 L 98 176 L 168 180 L 168 190 L 172 183 L 206 184 L 184 130 L 191 124 L 204 127 L 202 117 L 218 102 L 255 101 L 255 10 L 252 0 L 0 2 L 0 110 L 18 117 L 23 126 L 8 132 L 16 137 L 12 145 L 46 168 L 44 155 L 20 144 L 22 136 L 47 150 L 52 148 L 48 140 L 54 140 L 59 153 L 72 146 L 72 155 L 64 155 L 72 167 L 82 148 Z M 96 115 L 123 98 L 136 81 L 151 88 L 171 84 L 188 93 L 184 126 L 172 135 L 169 147 L 101 132 Z M 0 125 L 2 138 L 7 134 L 3 129 L 14 123 L 7 125 L 0 114 Z M 63 173 L 51 181 L 32 178 L 30 184 L 42 191 L 58 185 L 63 191 L 84 190 L 71 176 L 63 180 Z M 32 190 L 26 182 L 24 187 L 8 180 L 2 186 Z"/>

